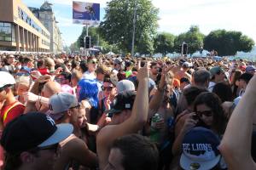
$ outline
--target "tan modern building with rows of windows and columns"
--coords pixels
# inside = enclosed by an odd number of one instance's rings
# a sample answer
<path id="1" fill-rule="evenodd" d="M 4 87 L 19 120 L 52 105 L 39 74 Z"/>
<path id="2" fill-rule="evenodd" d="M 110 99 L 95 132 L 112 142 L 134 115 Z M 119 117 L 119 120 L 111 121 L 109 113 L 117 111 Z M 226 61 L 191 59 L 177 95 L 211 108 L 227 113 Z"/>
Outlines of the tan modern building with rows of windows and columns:
<path id="1" fill-rule="evenodd" d="M 0 50 L 50 50 L 49 31 L 21 0 L 0 0 Z"/>

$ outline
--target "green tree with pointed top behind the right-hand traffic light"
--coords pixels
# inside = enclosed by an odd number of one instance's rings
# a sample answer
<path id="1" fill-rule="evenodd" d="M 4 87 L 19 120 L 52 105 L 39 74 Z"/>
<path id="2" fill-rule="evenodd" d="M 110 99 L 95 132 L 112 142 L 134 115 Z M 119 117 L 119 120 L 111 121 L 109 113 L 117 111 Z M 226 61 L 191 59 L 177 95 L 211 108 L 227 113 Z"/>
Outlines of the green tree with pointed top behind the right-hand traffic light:
<path id="1" fill-rule="evenodd" d="M 191 26 L 189 31 L 178 35 L 174 41 L 174 47 L 177 53 L 181 52 L 181 44 L 188 44 L 188 54 L 193 54 L 198 51 L 203 45 L 204 35 L 199 30 L 198 26 Z"/>

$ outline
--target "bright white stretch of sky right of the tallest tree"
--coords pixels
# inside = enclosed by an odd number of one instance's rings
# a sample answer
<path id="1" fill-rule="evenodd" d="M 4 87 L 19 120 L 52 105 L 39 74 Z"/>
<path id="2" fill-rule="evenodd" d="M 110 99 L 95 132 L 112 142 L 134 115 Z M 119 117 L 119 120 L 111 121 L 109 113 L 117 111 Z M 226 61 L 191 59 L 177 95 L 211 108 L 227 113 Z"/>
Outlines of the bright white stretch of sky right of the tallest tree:
<path id="1" fill-rule="evenodd" d="M 256 23 L 253 22 L 256 1 L 154 0 L 153 3 L 160 8 L 160 31 L 179 34 L 197 25 L 204 34 L 216 29 L 241 31 L 256 41 Z"/>

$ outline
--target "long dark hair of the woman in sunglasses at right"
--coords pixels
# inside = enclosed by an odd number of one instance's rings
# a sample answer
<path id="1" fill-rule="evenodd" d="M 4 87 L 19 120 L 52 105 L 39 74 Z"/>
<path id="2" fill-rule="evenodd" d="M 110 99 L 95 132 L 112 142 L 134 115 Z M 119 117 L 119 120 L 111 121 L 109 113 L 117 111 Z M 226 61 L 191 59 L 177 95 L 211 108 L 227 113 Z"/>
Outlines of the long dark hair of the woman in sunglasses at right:
<path id="1" fill-rule="evenodd" d="M 224 134 L 227 119 L 224 116 L 224 110 L 221 106 L 221 100 L 218 98 L 218 95 L 210 92 L 201 93 L 195 99 L 195 112 L 197 105 L 207 105 L 207 107 L 211 108 L 213 113 L 212 130 L 216 131 L 219 135 Z"/>

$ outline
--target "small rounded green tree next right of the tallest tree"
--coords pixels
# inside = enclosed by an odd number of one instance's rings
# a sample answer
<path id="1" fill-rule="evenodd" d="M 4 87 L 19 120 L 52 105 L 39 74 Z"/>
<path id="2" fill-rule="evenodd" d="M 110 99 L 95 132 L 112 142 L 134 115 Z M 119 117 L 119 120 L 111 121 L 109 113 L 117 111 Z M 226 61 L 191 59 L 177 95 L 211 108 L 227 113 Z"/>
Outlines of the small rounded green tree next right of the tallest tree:
<path id="1" fill-rule="evenodd" d="M 168 54 L 174 51 L 175 36 L 162 32 L 154 39 L 154 53 Z"/>

